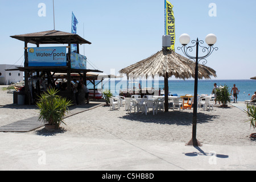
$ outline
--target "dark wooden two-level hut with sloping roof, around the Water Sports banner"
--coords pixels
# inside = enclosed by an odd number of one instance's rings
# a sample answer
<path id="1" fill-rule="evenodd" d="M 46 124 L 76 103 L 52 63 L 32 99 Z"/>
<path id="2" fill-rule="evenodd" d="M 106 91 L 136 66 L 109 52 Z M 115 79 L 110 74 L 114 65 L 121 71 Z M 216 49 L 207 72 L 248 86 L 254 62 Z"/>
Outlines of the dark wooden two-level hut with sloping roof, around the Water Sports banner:
<path id="1" fill-rule="evenodd" d="M 56 73 L 67 73 L 67 89 L 61 91 L 61 96 L 68 97 L 70 99 L 73 98 L 72 87 L 71 87 L 71 74 L 78 73 L 81 77 L 86 81 L 86 73 L 87 72 L 101 72 L 93 69 L 86 68 L 72 68 L 71 66 L 71 45 L 76 44 L 77 51 L 79 54 L 79 44 L 91 44 L 88 40 L 81 38 L 81 36 L 77 34 L 71 34 L 68 32 L 57 31 L 57 30 L 49 30 L 43 32 L 35 32 L 31 34 L 22 34 L 22 35 L 14 35 L 11 38 L 18 39 L 24 42 L 24 67 L 19 67 L 19 71 L 24 72 L 24 94 L 26 94 L 25 103 L 30 105 L 34 103 L 34 98 L 36 94 L 40 93 L 40 79 L 47 78 L 48 85 L 55 85 L 55 79 L 53 78 Z M 29 64 L 28 59 L 28 43 L 35 44 L 36 47 L 40 47 L 42 44 L 66 44 L 68 48 L 67 53 L 67 64 L 65 65 L 51 65 L 51 66 L 35 66 Z M 31 90 L 29 88 L 29 79 L 34 78 L 36 80 L 36 89 Z M 35 93 L 35 94 L 34 94 Z"/>

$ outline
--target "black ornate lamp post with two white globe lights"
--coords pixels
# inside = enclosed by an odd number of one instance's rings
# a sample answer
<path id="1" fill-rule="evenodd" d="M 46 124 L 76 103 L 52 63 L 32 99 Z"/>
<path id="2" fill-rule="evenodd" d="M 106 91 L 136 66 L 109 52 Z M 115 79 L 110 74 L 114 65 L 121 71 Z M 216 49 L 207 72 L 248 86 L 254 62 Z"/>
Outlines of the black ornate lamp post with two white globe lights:
<path id="1" fill-rule="evenodd" d="M 180 43 L 182 44 L 182 47 L 178 47 L 178 50 L 181 50 L 184 55 L 189 57 L 190 60 L 194 60 L 196 63 L 195 68 L 195 90 L 194 90 L 194 105 L 193 105 L 193 129 L 192 129 L 192 139 L 187 143 L 187 145 L 193 145 L 193 146 L 201 146 L 200 142 L 196 139 L 196 125 L 197 125 L 197 88 L 198 88 L 198 64 L 201 60 L 203 61 L 203 64 L 207 63 L 206 58 L 209 57 L 212 52 L 215 50 L 217 51 L 217 47 L 213 47 L 213 45 L 217 42 L 216 35 L 209 34 L 205 38 L 205 42 L 208 44 L 209 47 L 203 47 L 200 44 L 203 44 L 203 40 L 192 40 L 191 43 L 194 44 L 194 46 L 187 47 L 187 44 L 190 42 L 190 36 L 188 34 L 182 34 L 180 35 Z M 192 52 L 193 48 L 196 47 L 196 56 L 189 55 L 188 52 Z M 202 49 L 202 51 L 205 53 L 204 56 L 199 56 L 199 48 Z"/>

